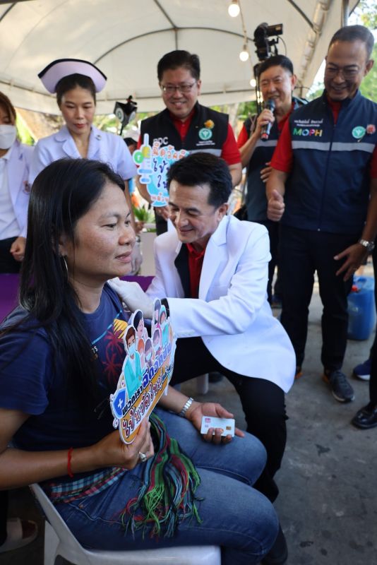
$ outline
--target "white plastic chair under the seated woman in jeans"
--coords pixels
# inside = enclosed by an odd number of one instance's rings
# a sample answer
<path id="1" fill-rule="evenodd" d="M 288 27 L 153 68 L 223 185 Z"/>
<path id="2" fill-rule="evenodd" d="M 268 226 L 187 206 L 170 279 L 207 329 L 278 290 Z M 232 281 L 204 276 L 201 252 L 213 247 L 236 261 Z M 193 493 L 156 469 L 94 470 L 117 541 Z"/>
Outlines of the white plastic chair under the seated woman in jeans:
<path id="1" fill-rule="evenodd" d="M 61 565 L 67 559 L 74 565 L 220 565 L 220 547 L 214 545 L 103 551 L 85 549 L 78 543 L 40 485 L 30 485 L 46 516 L 44 523 L 44 565 Z"/>

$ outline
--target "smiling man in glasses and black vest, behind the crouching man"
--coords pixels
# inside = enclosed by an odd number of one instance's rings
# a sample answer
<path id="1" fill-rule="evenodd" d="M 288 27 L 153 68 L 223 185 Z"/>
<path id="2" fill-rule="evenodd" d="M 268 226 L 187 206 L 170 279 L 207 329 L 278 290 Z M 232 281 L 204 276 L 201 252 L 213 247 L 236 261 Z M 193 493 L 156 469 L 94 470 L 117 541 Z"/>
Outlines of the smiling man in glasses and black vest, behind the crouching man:
<path id="1" fill-rule="evenodd" d="M 167 53 L 157 64 L 158 83 L 166 109 L 144 119 L 140 126 L 139 146 L 144 133 L 150 145 L 157 139 L 161 146 L 176 149 L 205 151 L 227 162 L 232 184 L 241 181 L 241 157 L 227 114 L 215 112 L 198 103 L 201 93 L 201 64 L 198 55 L 183 50 Z M 139 184 L 140 194 L 150 201 L 145 185 Z M 167 231 L 169 209 L 155 208 L 157 235 Z"/>

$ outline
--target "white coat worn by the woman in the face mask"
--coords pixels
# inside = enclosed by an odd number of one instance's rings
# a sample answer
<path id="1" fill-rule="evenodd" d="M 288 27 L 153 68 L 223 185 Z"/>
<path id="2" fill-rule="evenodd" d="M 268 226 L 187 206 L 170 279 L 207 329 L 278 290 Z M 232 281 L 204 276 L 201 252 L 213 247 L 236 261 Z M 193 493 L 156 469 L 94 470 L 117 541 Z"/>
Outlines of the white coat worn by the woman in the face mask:
<path id="1" fill-rule="evenodd" d="M 30 185 L 28 183 L 30 165 L 34 148 L 16 140 L 11 148 L 11 155 L 6 162 L 9 194 L 13 205 L 13 213 L 20 228 L 19 236 L 26 237 L 28 224 L 28 206 Z"/>

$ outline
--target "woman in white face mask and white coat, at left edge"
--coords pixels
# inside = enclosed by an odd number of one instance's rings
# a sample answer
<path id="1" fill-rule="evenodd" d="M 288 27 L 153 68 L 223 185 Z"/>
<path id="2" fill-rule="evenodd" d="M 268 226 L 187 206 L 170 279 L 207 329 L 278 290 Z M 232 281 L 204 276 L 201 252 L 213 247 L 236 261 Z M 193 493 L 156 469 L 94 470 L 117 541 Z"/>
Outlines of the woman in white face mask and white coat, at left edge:
<path id="1" fill-rule="evenodd" d="M 25 251 L 33 148 L 16 133 L 16 110 L 0 93 L 0 273 L 18 273 Z"/>

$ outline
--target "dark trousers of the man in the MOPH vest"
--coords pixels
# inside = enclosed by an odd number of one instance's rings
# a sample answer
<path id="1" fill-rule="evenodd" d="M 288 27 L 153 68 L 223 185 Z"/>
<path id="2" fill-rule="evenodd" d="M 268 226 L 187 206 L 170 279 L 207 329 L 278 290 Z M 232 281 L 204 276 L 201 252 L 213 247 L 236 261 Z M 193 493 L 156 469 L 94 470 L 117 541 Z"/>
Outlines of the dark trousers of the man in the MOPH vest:
<path id="1" fill-rule="evenodd" d="M 343 275 L 335 275 L 344 260 L 335 261 L 334 256 L 356 241 L 357 237 L 354 235 L 281 226 L 280 321 L 292 341 L 298 367 L 301 367 L 304 361 L 315 271 L 318 274 L 319 293 L 323 304 L 321 361 L 325 369 L 335 370 L 342 367 L 347 347 L 347 295 L 352 287 L 352 278 L 344 282 Z"/>

